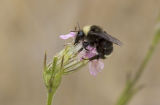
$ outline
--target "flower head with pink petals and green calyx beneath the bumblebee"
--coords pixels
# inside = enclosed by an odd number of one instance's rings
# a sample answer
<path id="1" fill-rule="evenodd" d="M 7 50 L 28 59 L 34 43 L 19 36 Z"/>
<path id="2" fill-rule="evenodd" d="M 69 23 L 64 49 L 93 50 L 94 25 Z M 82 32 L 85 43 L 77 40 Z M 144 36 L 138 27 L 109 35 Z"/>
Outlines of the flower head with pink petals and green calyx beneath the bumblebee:
<path id="1" fill-rule="evenodd" d="M 76 35 L 77 32 L 70 32 L 66 35 L 60 35 L 60 38 L 63 40 L 73 38 L 74 40 Z M 48 64 L 46 63 L 47 54 L 45 54 L 43 79 L 48 92 L 54 94 L 63 75 L 77 71 L 88 62 L 90 74 L 96 76 L 104 68 L 102 59 L 89 59 L 97 54 L 96 47 L 88 45 L 83 48 L 82 42 L 74 44 L 73 41 L 70 44 L 66 44 L 64 49 L 57 53 L 53 57 L 53 61 Z"/>

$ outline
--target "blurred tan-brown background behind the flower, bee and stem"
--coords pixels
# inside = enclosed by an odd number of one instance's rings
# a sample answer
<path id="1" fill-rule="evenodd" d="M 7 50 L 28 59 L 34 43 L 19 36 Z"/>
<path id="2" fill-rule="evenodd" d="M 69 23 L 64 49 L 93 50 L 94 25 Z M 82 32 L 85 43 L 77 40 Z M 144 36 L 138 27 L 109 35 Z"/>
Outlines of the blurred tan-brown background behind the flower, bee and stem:
<path id="1" fill-rule="evenodd" d="M 45 105 L 44 52 L 63 48 L 60 34 L 96 24 L 120 39 L 96 77 L 88 66 L 63 77 L 54 105 L 114 105 L 126 75 L 139 67 L 154 35 L 160 0 L 0 0 L 0 105 Z M 146 68 L 145 84 L 130 105 L 160 105 L 160 45 Z"/>

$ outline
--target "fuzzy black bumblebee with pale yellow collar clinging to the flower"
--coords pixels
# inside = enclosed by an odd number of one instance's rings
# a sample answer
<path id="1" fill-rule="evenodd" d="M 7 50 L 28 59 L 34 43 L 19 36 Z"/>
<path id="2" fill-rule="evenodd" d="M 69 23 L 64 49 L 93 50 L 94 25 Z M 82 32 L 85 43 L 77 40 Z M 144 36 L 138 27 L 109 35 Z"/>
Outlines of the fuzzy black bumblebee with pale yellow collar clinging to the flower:
<path id="1" fill-rule="evenodd" d="M 87 50 L 87 46 L 95 47 L 97 55 L 89 58 L 89 60 L 105 59 L 113 51 L 113 44 L 121 46 L 122 43 L 115 37 L 109 35 L 101 27 L 97 25 L 89 25 L 79 29 L 74 44 L 77 45 L 82 41 L 82 48 Z"/>

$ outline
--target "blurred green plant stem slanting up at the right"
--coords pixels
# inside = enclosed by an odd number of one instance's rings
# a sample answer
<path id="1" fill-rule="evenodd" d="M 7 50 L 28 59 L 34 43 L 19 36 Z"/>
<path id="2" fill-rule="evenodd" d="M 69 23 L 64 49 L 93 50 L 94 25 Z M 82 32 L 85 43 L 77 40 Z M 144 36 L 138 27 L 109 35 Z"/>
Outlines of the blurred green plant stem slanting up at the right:
<path id="1" fill-rule="evenodd" d="M 152 44 L 142 61 L 138 71 L 134 75 L 133 79 L 129 78 L 126 87 L 120 96 L 119 100 L 117 101 L 116 105 L 127 105 L 127 103 L 131 100 L 133 95 L 137 92 L 135 90 L 139 90 L 138 88 L 135 88 L 136 83 L 140 79 L 142 73 L 144 72 L 149 60 L 151 59 L 153 52 L 155 51 L 156 46 L 158 45 L 158 42 L 160 40 L 160 30 L 158 29 L 157 32 L 155 33 L 155 37 L 152 41 Z"/>

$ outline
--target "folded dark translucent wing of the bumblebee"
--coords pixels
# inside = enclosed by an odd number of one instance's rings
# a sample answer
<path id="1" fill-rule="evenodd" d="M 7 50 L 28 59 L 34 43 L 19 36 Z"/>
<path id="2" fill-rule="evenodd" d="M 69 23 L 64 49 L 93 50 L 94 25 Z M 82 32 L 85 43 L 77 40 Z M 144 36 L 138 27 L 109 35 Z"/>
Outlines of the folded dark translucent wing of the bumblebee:
<path id="1" fill-rule="evenodd" d="M 117 44 L 117 45 L 119 45 L 119 46 L 122 45 L 122 42 L 121 42 L 120 40 L 118 40 L 117 38 L 109 35 L 109 34 L 106 33 L 106 32 L 103 32 L 103 33 L 94 33 L 94 32 L 92 32 L 91 34 L 92 34 L 92 35 L 95 35 L 95 36 L 97 36 L 97 37 L 98 37 L 98 36 L 101 36 L 102 38 L 104 38 L 104 39 L 106 39 L 106 40 L 108 40 L 108 41 L 110 41 L 110 42 L 113 42 L 114 44 Z"/>

